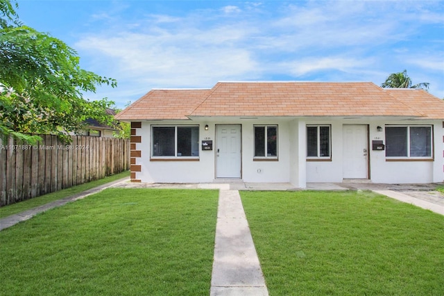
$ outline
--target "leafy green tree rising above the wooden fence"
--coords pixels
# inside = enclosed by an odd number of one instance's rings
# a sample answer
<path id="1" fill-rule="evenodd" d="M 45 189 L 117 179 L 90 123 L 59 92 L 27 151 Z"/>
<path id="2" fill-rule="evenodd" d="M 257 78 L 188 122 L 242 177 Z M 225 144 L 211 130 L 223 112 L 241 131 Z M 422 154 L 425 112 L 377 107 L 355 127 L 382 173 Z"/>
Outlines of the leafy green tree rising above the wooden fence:
<path id="1" fill-rule="evenodd" d="M 0 134 L 35 142 L 35 133 L 67 133 L 85 128 L 93 118 L 112 124 L 106 113 L 114 102 L 89 101 L 85 92 L 114 79 L 81 69 L 79 57 L 65 42 L 19 22 L 15 0 L 0 0 Z"/>

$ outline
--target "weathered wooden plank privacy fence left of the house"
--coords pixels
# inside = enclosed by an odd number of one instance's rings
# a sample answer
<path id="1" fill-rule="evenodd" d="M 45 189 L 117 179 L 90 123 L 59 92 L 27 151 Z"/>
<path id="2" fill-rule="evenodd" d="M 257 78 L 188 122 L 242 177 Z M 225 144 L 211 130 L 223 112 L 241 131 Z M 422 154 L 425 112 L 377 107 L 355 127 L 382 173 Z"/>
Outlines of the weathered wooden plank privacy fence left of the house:
<path id="1" fill-rule="evenodd" d="M 117 174 L 130 167 L 126 139 L 41 135 L 37 145 L 0 139 L 0 206 Z"/>

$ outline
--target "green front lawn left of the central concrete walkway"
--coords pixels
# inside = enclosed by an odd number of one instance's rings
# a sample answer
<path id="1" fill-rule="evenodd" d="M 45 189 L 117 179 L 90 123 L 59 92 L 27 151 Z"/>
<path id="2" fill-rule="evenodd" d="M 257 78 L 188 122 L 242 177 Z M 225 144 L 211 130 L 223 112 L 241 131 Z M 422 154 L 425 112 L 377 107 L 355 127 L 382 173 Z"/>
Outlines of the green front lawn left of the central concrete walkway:
<path id="1" fill-rule="evenodd" d="M 209 295 L 218 195 L 110 188 L 0 231 L 0 295 Z"/>

